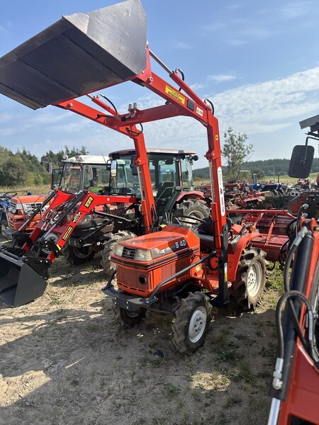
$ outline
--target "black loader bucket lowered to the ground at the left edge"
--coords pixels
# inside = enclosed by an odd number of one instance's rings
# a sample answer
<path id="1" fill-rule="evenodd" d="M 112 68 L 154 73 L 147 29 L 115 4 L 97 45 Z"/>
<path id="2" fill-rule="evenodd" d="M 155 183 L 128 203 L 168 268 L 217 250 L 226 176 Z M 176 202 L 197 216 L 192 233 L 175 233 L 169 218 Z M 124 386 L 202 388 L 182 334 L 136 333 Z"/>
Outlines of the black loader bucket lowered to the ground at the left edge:
<path id="1" fill-rule="evenodd" d="M 0 252 L 0 301 L 18 307 L 43 295 L 46 287 L 47 282 L 26 262 Z"/>

